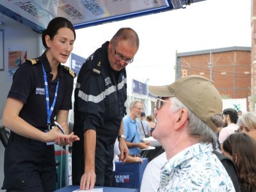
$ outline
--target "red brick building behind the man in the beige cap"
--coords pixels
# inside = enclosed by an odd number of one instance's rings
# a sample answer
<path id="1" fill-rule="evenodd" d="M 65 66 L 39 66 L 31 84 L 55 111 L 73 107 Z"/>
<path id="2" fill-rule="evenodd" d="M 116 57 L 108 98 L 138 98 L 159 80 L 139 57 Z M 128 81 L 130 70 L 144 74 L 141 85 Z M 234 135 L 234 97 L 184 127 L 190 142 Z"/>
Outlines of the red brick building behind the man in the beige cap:
<path id="1" fill-rule="evenodd" d="M 214 81 L 223 99 L 249 100 L 251 47 L 225 47 L 177 53 L 176 78 L 192 74 Z"/>

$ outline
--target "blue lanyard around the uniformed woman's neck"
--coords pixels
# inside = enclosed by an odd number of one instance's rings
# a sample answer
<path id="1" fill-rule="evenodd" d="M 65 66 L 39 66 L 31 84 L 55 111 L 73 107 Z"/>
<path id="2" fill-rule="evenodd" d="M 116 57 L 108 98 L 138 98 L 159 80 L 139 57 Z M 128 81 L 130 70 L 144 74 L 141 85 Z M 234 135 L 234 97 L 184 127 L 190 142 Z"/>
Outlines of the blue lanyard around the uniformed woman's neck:
<path id="1" fill-rule="evenodd" d="M 47 111 L 47 125 L 48 125 L 48 127 L 49 127 L 49 129 L 50 129 L 50 127 L 51 127 L 51 115 L 52 115 L 52 111 L 53 111 L 53 109 L 54 109 L 55 102 L 56 102 L 56 98 L 57 98 L 57 93 L 58 93 L 60 78 L 58 77 L 58 82 L 57 82 L 57 85 L 56 85 L 56 90 L 55 90 L 55 94 L 54 94 L 54 99 L 53 99 L 53 102 L 52 102 L 52 106 L 51 106 L 51 108 L 50 108 L 47 76 L 46 76 L 46 72 L 45 72 L 45 69 L 44 69 L 44 65 L 43 65 L 43 64 L 42 64 L 42 68 L 43 68 L 43 72 L 44 72 L 44 86 L 45 86 L 45 99 L 46 99 L 46 111 Z"/>

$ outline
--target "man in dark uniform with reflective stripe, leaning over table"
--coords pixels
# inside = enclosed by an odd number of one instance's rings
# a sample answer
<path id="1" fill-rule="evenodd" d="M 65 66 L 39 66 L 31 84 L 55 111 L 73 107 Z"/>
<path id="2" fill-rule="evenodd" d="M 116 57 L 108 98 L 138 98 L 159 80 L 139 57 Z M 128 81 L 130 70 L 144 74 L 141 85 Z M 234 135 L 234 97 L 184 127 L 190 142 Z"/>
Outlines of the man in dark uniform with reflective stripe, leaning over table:
<path id="1" fill-rule="evenodd" d="M 131 28 L 121 28 L 110 42 L 97 49 L 77 77 L 74 132 L 81 138 L 72 149 L 73 184 L 81 189 L 113 185 L 113 148 L 119 140 L 126 161 L 122 118 L 127 98 L 125 67 L 138 51 L 139 38 Z"/>

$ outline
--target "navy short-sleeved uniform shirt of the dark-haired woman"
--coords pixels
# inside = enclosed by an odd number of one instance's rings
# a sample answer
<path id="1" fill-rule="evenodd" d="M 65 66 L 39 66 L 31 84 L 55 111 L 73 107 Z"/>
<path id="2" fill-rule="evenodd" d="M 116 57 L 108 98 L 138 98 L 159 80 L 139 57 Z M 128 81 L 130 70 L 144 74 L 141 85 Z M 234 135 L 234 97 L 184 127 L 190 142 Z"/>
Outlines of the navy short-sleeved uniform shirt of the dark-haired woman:
<path id="1" fill-rule="evenodd" d="M 20 100 L 24 106 L 20 110 L 20 118 L 26 120 L 29 124 L 40 129 L 47 129 L 47 110 L 44 74 L 42 65 L 44 65 L 47 75 L 47 83 L 49 90 L 50 107 L 54 99 L 56 84 L 60 79 L 56 104 L 51 115 L 51 124 L 53 125 L 54 117 L 58 111 L 72 109 L 72 90 L 74 78 L 63 70 L 61 64 L 58 66 L 58 76 L 52 81 L 51 66 L 44 54 L 40 56 L 38 62 L 34 65 L 30 61 L 26 61 L 17 69 L 13 76 L 13 83 L 8 93 L 8 98 Z"/>

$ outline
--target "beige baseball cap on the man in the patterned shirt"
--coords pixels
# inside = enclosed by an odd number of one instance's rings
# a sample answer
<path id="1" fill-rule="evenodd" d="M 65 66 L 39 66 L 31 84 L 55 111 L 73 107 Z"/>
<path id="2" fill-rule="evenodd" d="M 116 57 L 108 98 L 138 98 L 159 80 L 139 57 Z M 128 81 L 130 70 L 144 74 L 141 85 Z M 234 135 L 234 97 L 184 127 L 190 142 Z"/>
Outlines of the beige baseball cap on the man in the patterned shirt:
<path id="1" fill-rule="evenodd" d="M 213 131 L 218 127 L 211 120 L 221 115 L 222 100 L 214 83 L 203 76 L 182 77 L 166 86 L 148 86 L 148 90 L 157 97 L 177 97 L 189 110 L 207 124 Z"/>

